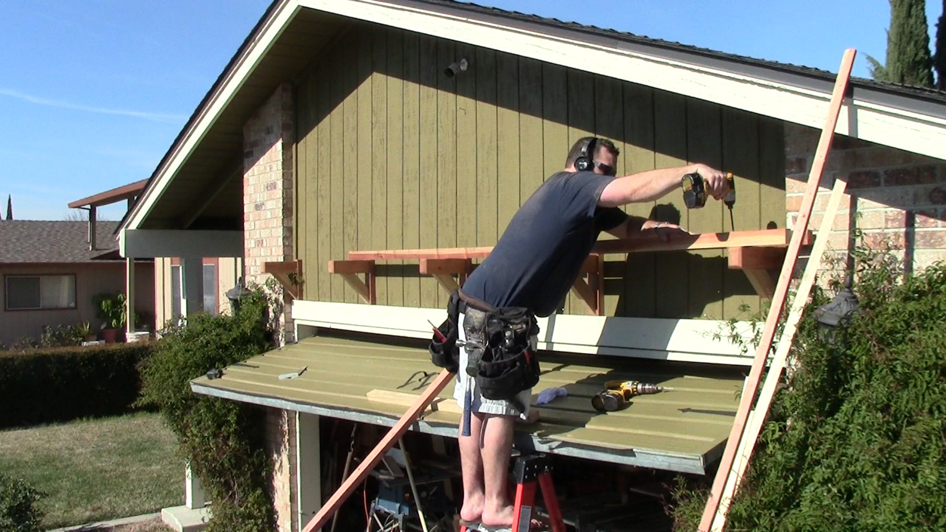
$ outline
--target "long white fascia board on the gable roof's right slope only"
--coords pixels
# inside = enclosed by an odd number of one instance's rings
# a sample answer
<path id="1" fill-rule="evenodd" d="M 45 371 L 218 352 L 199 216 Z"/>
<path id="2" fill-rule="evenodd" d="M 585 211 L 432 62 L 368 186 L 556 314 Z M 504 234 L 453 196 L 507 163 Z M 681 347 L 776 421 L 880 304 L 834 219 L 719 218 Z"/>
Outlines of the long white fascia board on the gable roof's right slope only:
<path id="1" fill-rule="evenodd" d="M 677 62 L 517 27 L 377 0 L 300 0 L 302 7 L 632 81 L 822 129 L 831 95 L 698 64 Z M 838 53 L 840 63 L 841 54 Z M 946 119 L 865 101 L 845 101 L 836 133 L 946 159 Z"/>

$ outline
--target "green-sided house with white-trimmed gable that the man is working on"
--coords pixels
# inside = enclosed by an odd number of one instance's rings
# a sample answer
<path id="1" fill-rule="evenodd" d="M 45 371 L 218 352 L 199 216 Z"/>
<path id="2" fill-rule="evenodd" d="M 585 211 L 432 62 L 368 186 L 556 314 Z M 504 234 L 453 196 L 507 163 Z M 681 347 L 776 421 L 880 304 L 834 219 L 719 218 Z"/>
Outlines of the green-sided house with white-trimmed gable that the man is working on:
<path id="1" fill-rule="evenodd" d="M 465 70 L 445 74 L 464 61 Z M 377 305 L 365 305 L 342 278 L 357 285 L 358 272 L 329 274 L 328 261 L 492 245 L 563 167 L 571 143 L 591 133 L 617 143 L 619 173 L 696 161 L 733 171 L 736 230 L 791 227 L 833 81 L 796 65 L 447 0 L 277 0 L 123 220 L 121 253 L 164 257 L 166 284 L 175 271 L 166 257 L 182 257 L 184 313 L 203 308 L 202 257 L 235 258 L 237 275 L 257 281 L 301 261 L 305 284 L 287 297 L 285 316 L 289 341 L 300 341 L 283 348 L 278 367 L 261 357 L 192 382 L 197 393 L 267 409 L 279 527 L 301 530 L 323 495 L 323 417 L 391 425 L 404 407 L 367 394 L 433 367 L 426 350 L 390 337 L 429 337 L 426 319 L 443 319 L 447 300 L 417 261 L 378 261 Z M 901 244 L 912 268 L 946 258 L 946 94 L 852 80 L 835 133 L 827 174 L 848 179 L 850 194 L 833 247 L 846 249 L 857 227 L 868 243 Z M 701 233 L 731 229 L 723 209 L 688 211 L 674 194 L 628 207 Z M 604 277 L 602 315 L 575 315 L 587 313 L 585 302 L 569 296 L 542 322 L 540 346 L 552 360 L 585 354 L 561 365 L 572 373 L 552 370 L 569 399 L 540 427 L 519 427 L 517 445 L 706 472 L 751 363 L 709 332 L 745 318 L 745 305 L 764 308 L 764 291 L 727 267 L 723 249 L 607 255 Z M 353 345 L 335 328 L 372 336 Z M 624 357 L 657 359 L 646 367 L 658 373 L 720 365 L 692 381 L 691 395 L 641 399 L 654 405 L 649 415 L 597 416 L 587 396 L 600 382 L 586 382 L 589 373 L 645 364 Z M 274 379 L 303 360 L 306 374 Z M 343 371 L 329 364 L 340 360 Z M 416 428 L 455 436 L 457 418 L 437 412 Z M 188 505 L 202 506 L 200 497 Z"/>

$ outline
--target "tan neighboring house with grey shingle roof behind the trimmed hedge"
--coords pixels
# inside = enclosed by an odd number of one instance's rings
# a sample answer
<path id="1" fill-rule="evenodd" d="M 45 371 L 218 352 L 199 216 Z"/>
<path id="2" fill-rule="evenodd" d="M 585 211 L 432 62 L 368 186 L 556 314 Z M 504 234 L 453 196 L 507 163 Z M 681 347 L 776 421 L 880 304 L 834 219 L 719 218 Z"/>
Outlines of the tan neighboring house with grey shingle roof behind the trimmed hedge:
<path id="1" fill-rule="evenodd" d="M 93 297 L 125 292 L 125 261 L 114 254 L 117 225 L 98 222 L 98 244 L 90 250 L 87 222 L 0 221 L 0 343 L 38 339 L 44 326 L 88 321 L 99 328 Z M 138 289 L 153 293 L 151 262 L 136 267 Z M 153 299 L 139 299 L 135 309 L 153 328 Z"/>

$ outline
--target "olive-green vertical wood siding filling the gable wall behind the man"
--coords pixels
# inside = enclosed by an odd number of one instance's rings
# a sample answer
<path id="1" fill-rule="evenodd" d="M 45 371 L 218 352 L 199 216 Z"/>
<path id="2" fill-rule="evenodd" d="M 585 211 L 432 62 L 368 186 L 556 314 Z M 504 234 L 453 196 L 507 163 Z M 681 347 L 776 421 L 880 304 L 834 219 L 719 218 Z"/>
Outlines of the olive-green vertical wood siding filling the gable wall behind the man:
<path id="1" fill-rule="evenodd" d="M 465 58 L 469 69 L 443 75 Z M 780 121 L 468 44 L 352 29 L 297 80 L 296 255 L 307 298 L 355 302 L 326 263 L 351 250 L 492 245 L 571 144 L 614 140 L 620 174 L 705 162 L 737 175 L 737 230 L 781 226 Z M 679 193 L 631 214 L 728 231 L 722 204 Z M 605 257 L 605 310 L 642 317 L 745 317 L 760 300 L 726 253 Z M 377 301 L 443 307 L 415 261 L 378 264 Z M 569 312 L 585 312 L 569 295 Z"/>

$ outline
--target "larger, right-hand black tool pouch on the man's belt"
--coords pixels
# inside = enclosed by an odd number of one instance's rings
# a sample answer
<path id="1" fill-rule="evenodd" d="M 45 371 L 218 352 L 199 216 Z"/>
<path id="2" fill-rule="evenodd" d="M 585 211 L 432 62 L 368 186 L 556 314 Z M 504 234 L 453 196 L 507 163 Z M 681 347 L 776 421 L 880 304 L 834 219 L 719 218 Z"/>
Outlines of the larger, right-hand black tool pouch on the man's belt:
<path id="1" fill-rule="evenodd" d="M 487 312 L 485 325 L 477 386 L 486 399 L 515 399 L 538 382 L 538 357 L 531 340 L 538 334 L 535 316 L 527 309 L 505 307 Z"/>

